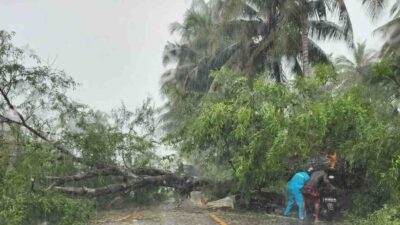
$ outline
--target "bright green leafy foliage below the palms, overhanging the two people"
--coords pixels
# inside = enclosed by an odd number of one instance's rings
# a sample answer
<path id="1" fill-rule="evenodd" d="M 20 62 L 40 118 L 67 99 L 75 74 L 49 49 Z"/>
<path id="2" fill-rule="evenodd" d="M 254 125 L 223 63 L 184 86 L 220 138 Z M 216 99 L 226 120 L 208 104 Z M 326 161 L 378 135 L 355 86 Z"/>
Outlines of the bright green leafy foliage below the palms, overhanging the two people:
<path id="1" fill-rule="evenodd" d="M 384 60 L 373 68 L 378 83 L 344 85 L 351 77 L 321 65 L 315 79 L 282 85 L 260 77 L 250 88 L 246 78 L 222 69 L 213 73 L 217 91 L 202 99 L 178 131 L 176 146 L 197 163 L 218 165 L 219 176 L 225 170 L 245 194 L 282 185 L 290 173 L 336 152 L 339 169 L 362 176 L 362 183 L 342 188 L 356 190 L 349 198 L 354 213 L 365 217 L 399 204 L 398 95 L 379 94 L 388 92 L 381 82 L 395 70 Z M 385 210 L 371 217 L 396 212 Z"/>

